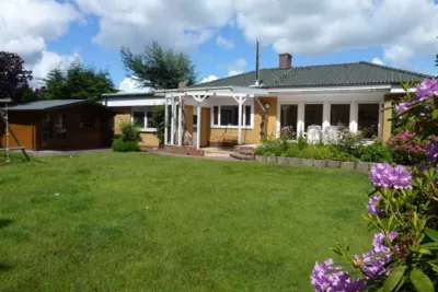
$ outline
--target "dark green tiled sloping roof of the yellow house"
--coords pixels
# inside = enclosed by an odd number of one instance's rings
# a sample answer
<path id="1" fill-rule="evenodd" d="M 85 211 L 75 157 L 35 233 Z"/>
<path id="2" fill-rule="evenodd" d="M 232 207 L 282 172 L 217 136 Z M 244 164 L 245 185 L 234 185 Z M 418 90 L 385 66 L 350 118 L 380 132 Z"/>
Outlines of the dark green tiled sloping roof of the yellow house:
<path id="1" fill-rule="evenodd" d="M 290 69 L 262 69 L 261 87 L 307 87 L 307 86 L 348 86 L 370 84 L 399 84 L 407 81 L 422 81 L 431 75 L 396 69 L 371 62 L 351 62 L 322 66 L 292 67 Z M 206 86 L 251 86 L 255 71 L 200 83 L 194 87 Z"/>

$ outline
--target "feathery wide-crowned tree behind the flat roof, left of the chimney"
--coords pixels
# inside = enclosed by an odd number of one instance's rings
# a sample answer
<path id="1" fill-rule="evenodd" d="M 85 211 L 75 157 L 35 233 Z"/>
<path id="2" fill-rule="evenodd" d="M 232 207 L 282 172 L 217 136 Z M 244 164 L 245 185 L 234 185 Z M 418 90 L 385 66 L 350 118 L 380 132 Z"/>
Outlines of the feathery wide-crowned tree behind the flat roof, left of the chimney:
<path id="1" fill-rule="evenodd" d="M 145 87 L 175 89 L 181 81 L 187 85 L 196 83 L 197 74 L 191 58 L 172 49 L 164 50 L 157 42 L 146 46 L 140 54 L 124 47 L 120 55 L 128 75 Z"/>

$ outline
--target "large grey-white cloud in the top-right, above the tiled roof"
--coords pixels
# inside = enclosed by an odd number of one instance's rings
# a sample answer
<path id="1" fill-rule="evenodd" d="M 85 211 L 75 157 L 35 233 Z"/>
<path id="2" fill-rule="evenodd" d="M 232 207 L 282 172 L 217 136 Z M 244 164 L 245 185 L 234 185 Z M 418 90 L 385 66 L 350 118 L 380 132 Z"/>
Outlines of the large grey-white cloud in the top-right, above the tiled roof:
<path id="1" fill-rule="evenodd" d="M 277 52 L 318 55 L 381 46 L 384 60 L 410 66 L 438 51 L 431 0 L 237 0 L 238 27 Z"/>

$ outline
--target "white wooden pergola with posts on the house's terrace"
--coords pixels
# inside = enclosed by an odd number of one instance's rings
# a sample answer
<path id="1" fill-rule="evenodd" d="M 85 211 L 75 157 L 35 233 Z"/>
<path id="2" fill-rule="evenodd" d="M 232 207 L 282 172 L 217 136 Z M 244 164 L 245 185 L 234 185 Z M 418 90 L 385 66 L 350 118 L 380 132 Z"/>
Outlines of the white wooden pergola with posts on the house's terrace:
<path id="1" fill-rule="evenodd" d="M 268 92 L 257 87 L 243 86 L 215 86 L 215 87 L 185 87 L 176 90 L 155 91 L 155 94 L 164 95 L 165 104 L 165 130 L 164 144 L 166 145 L 183 145 L 183 129 L 182 129 L 182 107 L 183 98 L 192 100 L 193 103 L 187 105 L 196 106 L 197 110 L 197 137 L 196 148 L 200 148 L 200 122 L 201 122 L 201 105 L 206 98 L 226 98 L 232 97 L 239 105 L 239 121 L 238 121 L 238 143 L 242 142 L 242 105 L 247 98 L 258 96 L 268 96 Z M 171 136 L 169 139 L 169 106 L 171 107 Z M 176 121 L 177 117 L 177 121 Z M 175 131 L 177 131 L 177 143 L 175 143 Z"/>

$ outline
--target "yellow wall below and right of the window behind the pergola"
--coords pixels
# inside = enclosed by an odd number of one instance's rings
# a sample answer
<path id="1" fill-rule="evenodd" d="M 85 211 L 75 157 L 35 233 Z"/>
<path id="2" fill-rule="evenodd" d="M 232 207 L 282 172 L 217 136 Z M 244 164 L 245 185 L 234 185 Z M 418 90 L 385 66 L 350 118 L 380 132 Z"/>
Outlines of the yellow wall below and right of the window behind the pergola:
<path id="1" fill-rule="evenodd" d="M 261 97 L 263 105 L 266 103 L 270 104 L 270 107 L 266 110 L 266 133 L 268 137 L 275 137 L 277 130 L 277 97 Z M 254 101 L 254 129 L 246 130 L 242 129 L 242 143 L 255 144 L 261 141 L 261 122 L 262 122 L 262 108 L 260 108 L 257 102 Z M 210 130 L 210 142 L 214 143 L 237 143 L 238 129 L 215 129 Z"/>

